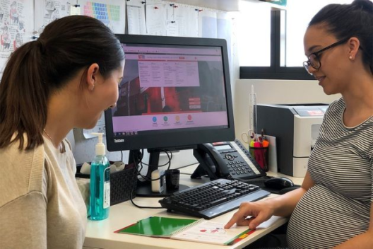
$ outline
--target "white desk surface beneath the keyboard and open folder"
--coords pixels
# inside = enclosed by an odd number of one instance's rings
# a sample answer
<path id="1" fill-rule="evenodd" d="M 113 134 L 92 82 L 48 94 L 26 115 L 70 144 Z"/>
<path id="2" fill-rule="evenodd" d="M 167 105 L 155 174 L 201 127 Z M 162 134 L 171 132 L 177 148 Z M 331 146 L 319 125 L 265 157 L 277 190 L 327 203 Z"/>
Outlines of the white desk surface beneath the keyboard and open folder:
<path id="1" fill-rule="evenodd" d="M 181 172 L 191 173 L 194 167 L 183 168 Z M 268 175 L 280 175 L 268 173 Z M 288 176 L 287 176 L 288 177 Z M 301 184 L 302 178 L 291 178 L 295 184 Z M 191 180 L 190 175 L 180 175 L 180 184 L 183 185 L 199 185 L 206 180 Z M 270 195 L 268 198 L 276 195 Z M 160 198 L 145 198 L 136 197 L 134 202 L 140 206 L 160 207 L 158 200 Z M 213 221 L 226 223 L 232 217 L 235 211 L 218 216 Z M 131 248 L 131 249 L 146 249 L 146 248 L 243 248 L 246 245 L 256 241 L 262 236 L 270 233 L 279 226 L 285 224 L 288 219 L 273 216 L 268 221 L 261 224 L 254 233 L 251 233 L 247 238 L 232 246 L 212 245 L 206 243 L 195 243 L 189 241 L 177 241 L 168 238 L 150 238 L 146 236 L 134 236 L 128 234 L 114 233 L 120 228 L 136 223 L 140 219 L 148 216 L 174 216 L 190 218 L 190 216 L 182 216 L 166 212 L 165 209 L 138 209 L 130 201 L 122 202 L 110 207 L 109 218 L 103 221 L 88 220 L 87 232 L 85 235 L 84 248 Z"/>

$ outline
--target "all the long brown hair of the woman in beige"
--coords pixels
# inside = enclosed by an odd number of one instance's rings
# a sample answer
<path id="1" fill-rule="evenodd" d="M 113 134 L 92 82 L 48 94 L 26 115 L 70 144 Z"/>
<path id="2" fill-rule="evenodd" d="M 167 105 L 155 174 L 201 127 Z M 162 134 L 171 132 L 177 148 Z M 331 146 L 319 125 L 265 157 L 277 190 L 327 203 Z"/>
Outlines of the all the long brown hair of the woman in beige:
<path id="1" fill-rule="evenodd" d="M 36 41 L 19 47 L 0 83 L 0 149 L 19 141 L 19 149 L 43 144 L 47 102 L 76 73 L 97 63 L 107 77 L 124 60 L 117 37 L 88 16 L 67 16 L 45 27 Z M 13 134 L 16 136 L 12 139 Z M 27 144 L 25 144 L 25 138 Z"/>

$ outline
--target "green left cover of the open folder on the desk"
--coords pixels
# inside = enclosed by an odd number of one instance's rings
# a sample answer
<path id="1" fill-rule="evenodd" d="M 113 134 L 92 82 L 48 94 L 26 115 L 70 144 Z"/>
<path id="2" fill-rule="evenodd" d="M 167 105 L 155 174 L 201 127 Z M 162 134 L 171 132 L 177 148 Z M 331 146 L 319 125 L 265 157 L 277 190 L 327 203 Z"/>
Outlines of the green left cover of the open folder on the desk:
<path id="1" fill-rule="evenodd" d="M 170 217 L 152 216 L 135 224 L 115 231 L 116 233 L 129 233 L 141 236 L 170 238 L 173 233 L 189 226 L 198 219 L 179 219 Z"/>

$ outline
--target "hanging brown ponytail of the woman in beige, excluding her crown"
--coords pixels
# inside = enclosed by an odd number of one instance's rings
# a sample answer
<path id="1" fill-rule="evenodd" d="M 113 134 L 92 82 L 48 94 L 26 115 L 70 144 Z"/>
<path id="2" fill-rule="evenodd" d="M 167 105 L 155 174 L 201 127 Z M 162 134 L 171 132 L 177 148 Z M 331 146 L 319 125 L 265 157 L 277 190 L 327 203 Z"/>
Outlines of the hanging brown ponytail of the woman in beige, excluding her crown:
<path id="1" fill-rule="evenodd" d="M 28 42 L 11 54 L 0 83 L 0 148 L 13 134 L 23 148 L 42 144 L 42 128 L 47 120 L 47 91 L 42 86 L 42 62 L 37 42 Z M 36 115 L 35 115 L 36 114 Z"/>

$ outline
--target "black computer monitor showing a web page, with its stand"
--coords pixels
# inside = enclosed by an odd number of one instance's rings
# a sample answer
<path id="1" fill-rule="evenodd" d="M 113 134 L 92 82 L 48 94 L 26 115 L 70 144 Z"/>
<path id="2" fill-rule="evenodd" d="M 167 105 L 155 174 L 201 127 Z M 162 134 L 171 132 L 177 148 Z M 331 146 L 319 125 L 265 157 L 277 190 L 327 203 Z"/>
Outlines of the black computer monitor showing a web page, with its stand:
<path id="1" fill-rule="evenodd" d="M 225 40 L 117 37 L 126 62 L 117 106 L 105 112 L 109 151 L 148 149 L 150 178 L 162 150 L 235 139 Z"/>

